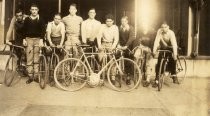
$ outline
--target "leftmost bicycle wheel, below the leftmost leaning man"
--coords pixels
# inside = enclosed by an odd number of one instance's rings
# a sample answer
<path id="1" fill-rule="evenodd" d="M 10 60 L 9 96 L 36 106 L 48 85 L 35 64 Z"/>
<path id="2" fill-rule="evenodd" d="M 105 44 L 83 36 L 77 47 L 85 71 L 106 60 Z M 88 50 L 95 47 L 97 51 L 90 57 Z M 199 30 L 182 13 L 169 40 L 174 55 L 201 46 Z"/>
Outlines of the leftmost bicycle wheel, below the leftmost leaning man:
<path id="1" fill-rule="evenodd" d="M 7 64 L 4 71 L 4 84 L 8 87 L 11 86 L 15 76 L 18 76 L 17 60 L 18 58 L 15 54 L 11 54 L 9 59 L 7 60 Z"/>

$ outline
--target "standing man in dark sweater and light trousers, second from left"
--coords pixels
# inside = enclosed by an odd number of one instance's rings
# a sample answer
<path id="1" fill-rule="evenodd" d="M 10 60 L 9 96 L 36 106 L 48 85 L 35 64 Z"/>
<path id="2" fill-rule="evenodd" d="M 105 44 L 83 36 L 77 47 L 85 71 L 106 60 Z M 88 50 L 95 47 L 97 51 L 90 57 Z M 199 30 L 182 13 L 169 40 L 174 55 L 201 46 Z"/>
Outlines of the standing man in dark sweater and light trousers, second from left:
<path id="1" fill-rule="evenodd" d="M 26 48 L 26 58 L 27 58 L 27 71 L 29 74 L 29 79 L 26 81 L 27 84 L 31 83 L 37 78 L 32 77 L 32 74 L 38 73 L 38 63 L 39 61 L 39 47 L 34 46 L 43 46 L 43 38 L 45 34 L 45 24 L 43 19 L 39 16 L 39 8 L 36 4 L 31 5 L 30 7 L 31 15 L 25 19 L 23 25 L 23 32 L 25 39 L 23 40 L 23 45 L 27 46 Z"/>

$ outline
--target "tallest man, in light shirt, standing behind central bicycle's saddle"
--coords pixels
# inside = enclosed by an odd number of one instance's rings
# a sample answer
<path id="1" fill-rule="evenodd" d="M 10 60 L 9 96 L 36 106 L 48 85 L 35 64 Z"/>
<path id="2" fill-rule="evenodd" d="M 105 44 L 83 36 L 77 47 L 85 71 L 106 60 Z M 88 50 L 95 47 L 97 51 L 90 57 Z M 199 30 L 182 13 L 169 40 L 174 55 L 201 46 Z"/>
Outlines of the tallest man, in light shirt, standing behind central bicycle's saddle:
<path id="1" fill-rule="evenodd" d="M 81 27 L 81 23 L 83 19 L 82 17 L 76 15 L 77 13 L 76 4 L 70 5 L 69 12 L 70 14 L 63 18 L 63 23 L 65 24 L 65 27 L 66 27 L 66 36 L 67 36 L 65 45 L 66 45 L 67 50 L 71 50 L 73 48 L 73 55 L 75 57 L 75 56 L 78 56 L 79 54 L 78 52 L 80 51 L 75 45 L 81 44 L 80 27 Z"/>

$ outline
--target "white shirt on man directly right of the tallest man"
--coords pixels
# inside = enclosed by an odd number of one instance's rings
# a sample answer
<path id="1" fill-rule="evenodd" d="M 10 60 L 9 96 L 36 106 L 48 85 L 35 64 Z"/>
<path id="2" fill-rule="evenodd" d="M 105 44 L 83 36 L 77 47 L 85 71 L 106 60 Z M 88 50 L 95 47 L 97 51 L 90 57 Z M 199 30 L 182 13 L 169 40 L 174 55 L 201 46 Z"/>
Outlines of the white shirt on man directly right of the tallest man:
<path id="1" fill-rule="evenodd" d="M 101 27 L 101 22 L 95 19 L 87 19 L 82 22 L 81 32 L 83 43 L 87 42 L 87 39 L 94 41 L 97 37 Z"/>

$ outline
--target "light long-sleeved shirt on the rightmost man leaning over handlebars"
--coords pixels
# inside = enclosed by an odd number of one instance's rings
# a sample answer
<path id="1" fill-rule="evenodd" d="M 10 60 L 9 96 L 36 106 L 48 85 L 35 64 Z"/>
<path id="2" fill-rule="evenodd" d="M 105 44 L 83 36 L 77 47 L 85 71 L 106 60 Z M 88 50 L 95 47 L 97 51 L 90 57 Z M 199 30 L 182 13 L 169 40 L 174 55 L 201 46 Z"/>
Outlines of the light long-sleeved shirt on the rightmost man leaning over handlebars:
<path id="1" fill-rule="evenodd" d="M 172 47 L 174 55 L 177 55 L 176 36 L 172 30 L 168 30 L 166 33 L 161 29 L 157 31 L 153 52 L 156 52 L 158 47 L 161 49 Z"/>

